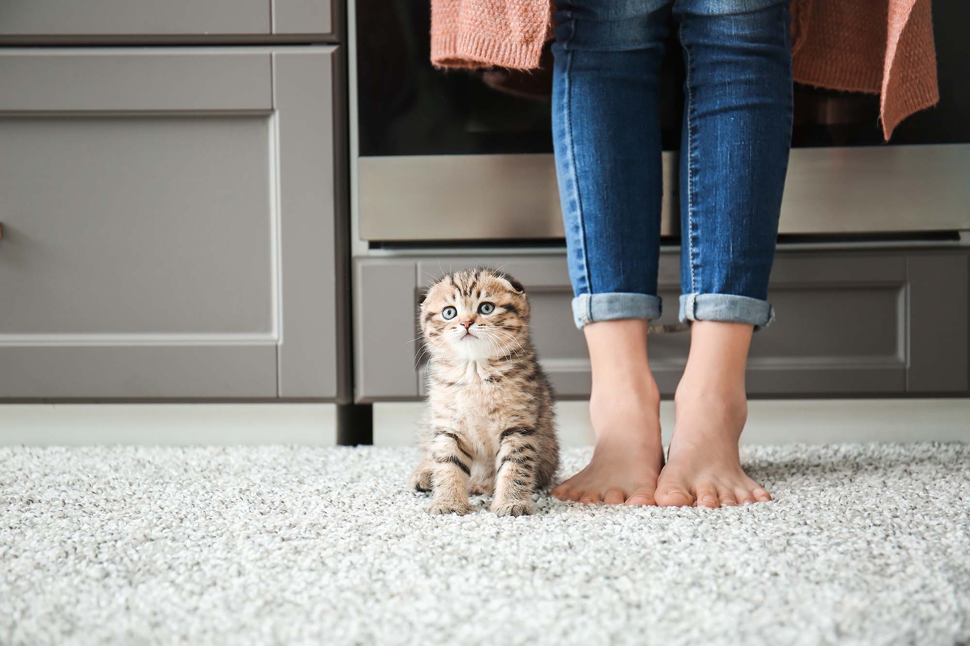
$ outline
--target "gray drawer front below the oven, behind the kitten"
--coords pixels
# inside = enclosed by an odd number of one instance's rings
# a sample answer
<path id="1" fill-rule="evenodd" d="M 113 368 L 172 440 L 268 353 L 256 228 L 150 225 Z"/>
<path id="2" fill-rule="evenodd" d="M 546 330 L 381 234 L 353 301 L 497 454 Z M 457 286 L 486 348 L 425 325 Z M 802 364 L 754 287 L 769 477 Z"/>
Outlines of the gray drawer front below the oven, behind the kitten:
<path id="1" fill-rule="evenodd" d="M 562 398 L 589 395 L 589 358 L 572 322 L 562 255 L 402 256 L 354 263 L 358 402 L 424 395 L 415 308 L 442 271 L 501 266 L 526 285 L 533 341 Z M 804 251 L 780 249 L 771 277 L 773 325 L 752 342 L 753 397 L 966 396 L 968 250 L 960 247 Z M 660 323 L 675 323 L 678 254 L 662 253 Z M 650 362 L 664 395 L 684 369 L 690 335 L 651 335 Z"/>

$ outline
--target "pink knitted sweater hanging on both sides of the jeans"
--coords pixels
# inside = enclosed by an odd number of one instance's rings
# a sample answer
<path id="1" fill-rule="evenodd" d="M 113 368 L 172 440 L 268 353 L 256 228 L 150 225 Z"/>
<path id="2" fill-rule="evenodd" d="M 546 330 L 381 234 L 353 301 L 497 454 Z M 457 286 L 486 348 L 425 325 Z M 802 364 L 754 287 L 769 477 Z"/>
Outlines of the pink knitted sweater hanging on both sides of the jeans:
<path id="1" fill-rule="evenodd" d="M 953 0 L 961 2 L 963 0 Z M 438 67 L 538 66 L 550 0 L 431 0 Z M 940 99 L 930 0 L 792 0 L 794 80 L 880 95 L 887 140 Z"/>

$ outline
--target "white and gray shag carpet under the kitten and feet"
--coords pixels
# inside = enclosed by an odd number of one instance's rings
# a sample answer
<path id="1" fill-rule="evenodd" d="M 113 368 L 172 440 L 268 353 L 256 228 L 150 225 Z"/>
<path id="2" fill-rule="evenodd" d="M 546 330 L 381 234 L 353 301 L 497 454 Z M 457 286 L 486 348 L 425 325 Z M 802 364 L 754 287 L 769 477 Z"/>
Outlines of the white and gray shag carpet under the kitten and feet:
<path id="1" fill-rule="evenodd" d="M 965 444 L 748 447 L 775 501 L 521 518 L 426 514 L 416 459 L 0 448 L 0 643 L 970 641 Z"/>

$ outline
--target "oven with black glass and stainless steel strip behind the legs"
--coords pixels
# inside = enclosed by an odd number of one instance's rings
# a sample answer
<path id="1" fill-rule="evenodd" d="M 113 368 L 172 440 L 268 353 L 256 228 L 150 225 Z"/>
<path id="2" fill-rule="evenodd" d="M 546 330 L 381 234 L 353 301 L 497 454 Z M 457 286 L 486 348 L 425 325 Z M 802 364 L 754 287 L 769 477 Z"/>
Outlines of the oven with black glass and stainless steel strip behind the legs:
<path id="1" fill-rule="evenodd" d="M 351 3 L 358 244 L 561 243 L 549 66 L 435 70 L 429 19 L 425 0 Z M 970 230 L 968 21 L 970 5 L 935 3 L 941 100 L 889 144 L 877 96 L 796 84 L 783 239 L 940 240 Z M 675 243 L 683 65 L 675 40 L 666 50 L 662 234 Z"/>

